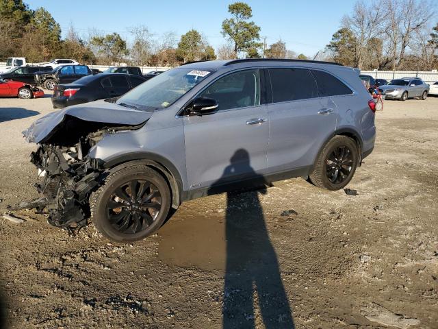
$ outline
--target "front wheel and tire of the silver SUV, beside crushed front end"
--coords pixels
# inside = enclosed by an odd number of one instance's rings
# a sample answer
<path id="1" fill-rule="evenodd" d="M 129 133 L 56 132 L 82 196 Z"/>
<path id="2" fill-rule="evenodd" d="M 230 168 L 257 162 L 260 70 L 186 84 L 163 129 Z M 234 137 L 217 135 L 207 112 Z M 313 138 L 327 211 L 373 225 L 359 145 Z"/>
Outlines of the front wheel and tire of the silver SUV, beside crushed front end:
<path id="1" fill-rule="evenodd" d="M 143 165 L 120 169 L 90 197 L 92 221 L 114 242 L 144 239 L 166 220 L 170 188 L 157 171 Z"/>

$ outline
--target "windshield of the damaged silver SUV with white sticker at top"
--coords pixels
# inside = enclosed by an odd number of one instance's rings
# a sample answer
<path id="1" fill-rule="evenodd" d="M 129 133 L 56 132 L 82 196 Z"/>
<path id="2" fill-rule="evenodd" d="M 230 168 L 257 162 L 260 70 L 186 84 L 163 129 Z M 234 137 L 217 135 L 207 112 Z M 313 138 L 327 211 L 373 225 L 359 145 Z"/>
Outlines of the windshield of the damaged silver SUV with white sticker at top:
<path id="1" fill-rule="evenodd" d="M 167 108 L 210 73 L 185 68 L 171 69 L 140 84 L 116 103 L 143 111 Z"/>

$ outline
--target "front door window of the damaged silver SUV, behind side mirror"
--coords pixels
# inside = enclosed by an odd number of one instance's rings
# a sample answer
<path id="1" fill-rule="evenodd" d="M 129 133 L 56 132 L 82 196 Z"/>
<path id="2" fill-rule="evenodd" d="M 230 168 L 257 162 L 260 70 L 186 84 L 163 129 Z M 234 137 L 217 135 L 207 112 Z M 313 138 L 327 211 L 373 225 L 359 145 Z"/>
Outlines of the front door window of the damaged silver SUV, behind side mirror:
<path id="1" fill-rule="evenodd" d="M 259 70 L 225 75 L 205 89 L 199 97 L 216 99 L 219 103 L 218 110 L 260 105 Z"/>

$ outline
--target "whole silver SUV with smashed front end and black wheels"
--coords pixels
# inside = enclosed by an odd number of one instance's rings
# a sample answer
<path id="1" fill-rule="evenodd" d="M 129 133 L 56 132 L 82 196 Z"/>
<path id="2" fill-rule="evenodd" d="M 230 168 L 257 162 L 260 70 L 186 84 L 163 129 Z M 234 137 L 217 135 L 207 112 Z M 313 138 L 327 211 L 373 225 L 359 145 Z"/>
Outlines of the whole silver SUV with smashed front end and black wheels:
<path id="1" fill-rule="evenodd" d="M 333 63 L 185 64 L 35 121 L 23 134 L 43 196 L 24 206 L 120 242 L 196 197 L 299 176 L 337 190 L 372 152 L 374 110 L 358 71 Z"/>

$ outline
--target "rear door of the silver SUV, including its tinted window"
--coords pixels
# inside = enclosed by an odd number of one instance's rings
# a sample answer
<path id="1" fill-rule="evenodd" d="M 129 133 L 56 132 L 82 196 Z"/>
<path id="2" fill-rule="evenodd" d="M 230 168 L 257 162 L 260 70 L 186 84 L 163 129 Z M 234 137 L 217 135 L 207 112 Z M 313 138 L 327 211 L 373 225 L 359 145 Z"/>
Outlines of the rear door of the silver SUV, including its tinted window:
<path id="1" fill-rule="evenodd" d="M 335 131 L 337 108 L 331 97 L 321 97 L 309 69 L 269 69 L 272 103 L 268 106 L 270 173 L 296 169 L 307 175 L 315 154 Z"/>

